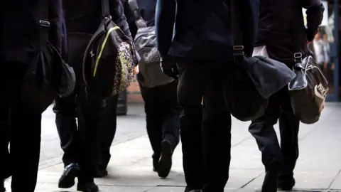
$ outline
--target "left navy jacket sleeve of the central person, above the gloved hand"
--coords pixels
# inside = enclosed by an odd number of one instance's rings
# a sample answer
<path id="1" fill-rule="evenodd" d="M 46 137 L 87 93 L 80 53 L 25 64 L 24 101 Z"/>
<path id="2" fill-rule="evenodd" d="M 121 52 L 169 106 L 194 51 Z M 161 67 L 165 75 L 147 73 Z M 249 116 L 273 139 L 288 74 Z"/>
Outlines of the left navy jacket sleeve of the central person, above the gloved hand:
<path id="1" fill-rule="evenodd" d="M 175 10 L 175 0 L 158 0 L 156 3 L 156 41 L 163 58 L 168 55 L 173 41 Z"/>

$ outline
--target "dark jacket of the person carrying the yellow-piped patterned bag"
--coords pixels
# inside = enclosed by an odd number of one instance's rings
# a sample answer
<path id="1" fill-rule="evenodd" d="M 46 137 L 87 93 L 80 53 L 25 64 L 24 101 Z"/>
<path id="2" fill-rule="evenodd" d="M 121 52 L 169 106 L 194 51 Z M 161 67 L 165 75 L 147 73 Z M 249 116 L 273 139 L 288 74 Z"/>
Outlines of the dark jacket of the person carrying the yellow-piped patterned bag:
<path id="1" fill-rule="evenodd" d="M 97 31 L 102 21 L 102 2 L 100 0 L 64 0 L 68 33 L 90 33 Z M 131 37 L 120 0 L 109 0 L 110 14 L 119 28 Z"/>

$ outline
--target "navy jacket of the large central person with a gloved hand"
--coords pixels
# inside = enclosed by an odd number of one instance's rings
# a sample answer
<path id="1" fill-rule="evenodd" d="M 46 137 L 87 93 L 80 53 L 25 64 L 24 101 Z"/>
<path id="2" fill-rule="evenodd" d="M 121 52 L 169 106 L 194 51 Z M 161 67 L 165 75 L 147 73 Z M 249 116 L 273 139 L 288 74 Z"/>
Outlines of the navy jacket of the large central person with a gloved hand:
<path id="1" fill-rule="evenodd" d="M 244 47 L 250 55 L 254 46 L 259 4 L 258 0 L 237 2 L 241 4 L 241 10 L 238 11 L 243 13 L 241 25 L 244 29 Z M 232 60 L 230 13 L 228 0 L 158 0 L 158 50 L 163 57 L 169 54 L 180 58 Z"/>

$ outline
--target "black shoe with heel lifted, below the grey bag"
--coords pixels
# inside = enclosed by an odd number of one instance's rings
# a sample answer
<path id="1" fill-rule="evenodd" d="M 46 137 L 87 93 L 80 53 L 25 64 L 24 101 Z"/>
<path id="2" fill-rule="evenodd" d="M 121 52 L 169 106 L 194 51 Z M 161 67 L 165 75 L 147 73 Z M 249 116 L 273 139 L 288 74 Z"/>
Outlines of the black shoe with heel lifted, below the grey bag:
<path id="1" fill-rule="evenodd" d="M 172 168 L 173 147 L 171 142 L 161 142 L 161 159 L 158 161 L 158 176 L 166 178 Z"/>

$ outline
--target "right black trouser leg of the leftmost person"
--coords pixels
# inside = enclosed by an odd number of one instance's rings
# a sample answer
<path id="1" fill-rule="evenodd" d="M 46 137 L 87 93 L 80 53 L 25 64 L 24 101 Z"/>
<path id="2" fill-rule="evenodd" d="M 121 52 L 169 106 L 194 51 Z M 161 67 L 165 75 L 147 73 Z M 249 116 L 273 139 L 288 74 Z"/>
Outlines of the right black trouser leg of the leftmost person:
<path id="1" fill-rule="evenodd" d="M 22 63 L 9 65 L 11 188 L 13 192 L 33 192 L 40 157 L 41 114 L 26 107 L 21 98 L 21 86 L 28 66 Z"/>

